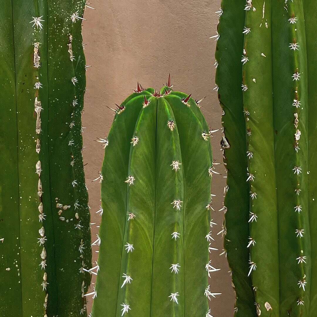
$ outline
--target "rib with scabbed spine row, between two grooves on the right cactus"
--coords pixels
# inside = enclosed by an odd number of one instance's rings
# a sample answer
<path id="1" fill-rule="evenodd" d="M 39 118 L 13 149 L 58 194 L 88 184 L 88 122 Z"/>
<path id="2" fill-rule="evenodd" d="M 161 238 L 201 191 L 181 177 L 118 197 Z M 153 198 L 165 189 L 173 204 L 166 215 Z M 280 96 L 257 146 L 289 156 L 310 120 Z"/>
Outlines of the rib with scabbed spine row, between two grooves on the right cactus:
<path id="1" fill-rule="evenodd" d="M 308 315 L 312 281 L 307 175 L 309 105 L 303 2 L 272 1 L 281 316 Z M 296 23 L 292 23 L 292 18 Z M 301 236 L 296 230 L 304 230 L 304 234 Z M 299 301 L 305 304 L 298 305 Z"/>

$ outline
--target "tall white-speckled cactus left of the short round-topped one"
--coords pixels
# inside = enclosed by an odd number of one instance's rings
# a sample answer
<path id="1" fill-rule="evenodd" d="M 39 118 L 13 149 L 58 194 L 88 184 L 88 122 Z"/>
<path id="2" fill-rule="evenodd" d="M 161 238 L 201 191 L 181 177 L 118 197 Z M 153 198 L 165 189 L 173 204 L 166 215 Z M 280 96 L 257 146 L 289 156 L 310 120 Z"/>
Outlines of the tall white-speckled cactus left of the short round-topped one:
<path id="1" fill-rule="evenodd" d="M 2 316 L 87 316 L 91 237 L 81 156 L 85 4 L 1 3 Z"/>

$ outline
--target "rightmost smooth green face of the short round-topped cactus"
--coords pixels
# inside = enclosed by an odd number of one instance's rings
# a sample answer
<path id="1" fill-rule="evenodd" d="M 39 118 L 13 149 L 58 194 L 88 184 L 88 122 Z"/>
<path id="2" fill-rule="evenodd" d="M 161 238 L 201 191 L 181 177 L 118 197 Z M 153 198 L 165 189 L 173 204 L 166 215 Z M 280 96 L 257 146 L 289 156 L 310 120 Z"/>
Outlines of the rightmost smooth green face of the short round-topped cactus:
<path id="1" fill-rule="evenodd" d="M 170 104 L 176 122 L 179 122 L 178 135 L 182 151 L 185 316 L 201 316 L 208 311 L 208 300 L 204 296 L 208 287 L 208 275 L 207 272 L 205 275 L 197 272 L 206 270 L 205 266 L 209 262 L 209 242 L 206 239 L 206 235 L 211 230 L 210 211 L 206 208 L 210 203 L 209 142 L 203 139 L 203 126 L 191 110 L 191 106 L 188 107 L 176 95 L 169 94 L 164 98 Z M 215 293 L 213 285 L 210 291 Z"/>

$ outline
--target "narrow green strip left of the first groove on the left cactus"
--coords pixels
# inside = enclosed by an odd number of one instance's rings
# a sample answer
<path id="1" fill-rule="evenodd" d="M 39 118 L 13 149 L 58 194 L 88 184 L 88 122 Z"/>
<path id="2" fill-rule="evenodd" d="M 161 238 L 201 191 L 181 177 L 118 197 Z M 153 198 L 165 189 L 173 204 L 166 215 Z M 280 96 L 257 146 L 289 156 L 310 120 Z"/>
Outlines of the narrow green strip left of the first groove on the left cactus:
<path id="1" fill-rule="evenodd" d="M 0 125 L 0 152 L 6 159 L 2 161 L 0 169 L 0 293 L 6 298 L 6 303 L 0 302 L 0 309 L 4 316 L 13 314 L 22 315 L 22 306 L 15 306 L 16 301 L 22 302 L 21 269 L 20 263 L 20 217 L 19 217 L 19 191 L 16 190 L 19 179 L 17 133 L 17 104 L 16 79 L 13 48 L 13 20 L 11 2 L 3 2 L 0 18 L 0 117 L 9 124 Z M 12 146 L 14 143 L 14 147 Z M 6 210 L 15 210 L 5 215 Z M 14 263 L 14 265 L 12 265 Z M 17 268 L 15 267 L 17 265 Z M 7 270 L 10 267 L 10 270 Z M 10 286 L 10 287 L 8 287 Z"/>

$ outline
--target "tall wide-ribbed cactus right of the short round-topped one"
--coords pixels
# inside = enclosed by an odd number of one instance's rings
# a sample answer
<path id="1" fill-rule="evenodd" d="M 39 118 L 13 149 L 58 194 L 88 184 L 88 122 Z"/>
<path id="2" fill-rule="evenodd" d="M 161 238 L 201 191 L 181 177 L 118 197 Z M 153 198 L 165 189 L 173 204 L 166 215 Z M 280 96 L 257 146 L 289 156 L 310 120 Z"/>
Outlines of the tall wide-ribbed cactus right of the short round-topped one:
<path id="1" fill-rule="evenodd" d="M 316 315 L 316 12 L 313 0 L 216 12 L 236 317 Z"/>

